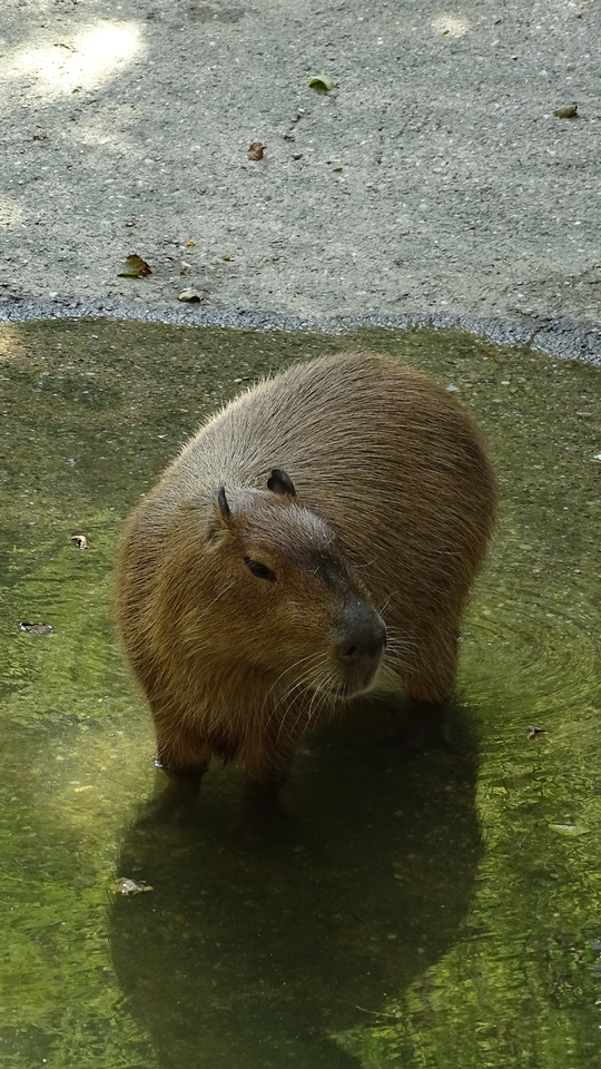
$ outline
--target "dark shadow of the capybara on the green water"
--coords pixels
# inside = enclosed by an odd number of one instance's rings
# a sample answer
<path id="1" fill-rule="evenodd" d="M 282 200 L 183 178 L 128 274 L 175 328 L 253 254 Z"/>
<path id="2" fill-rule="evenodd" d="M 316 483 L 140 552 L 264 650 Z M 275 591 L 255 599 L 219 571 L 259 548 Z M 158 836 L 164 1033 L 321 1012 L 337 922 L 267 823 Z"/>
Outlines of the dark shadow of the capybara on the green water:
<path id="1" fill-rule="evenodd" d="M 368 715 L 366 716 L 366 713 Z M 405 762 L 363 705 L 311 741 L 285 792 L 290 842 L 250 851 L 230 827 L 235 772 L 209 773 L 197 820 L 129 830 L 114 959 L 161 1069 L 356 1067 L 332 1038 L 374 1021 L 456 935 L 481 853 L 476 754 Z"/>

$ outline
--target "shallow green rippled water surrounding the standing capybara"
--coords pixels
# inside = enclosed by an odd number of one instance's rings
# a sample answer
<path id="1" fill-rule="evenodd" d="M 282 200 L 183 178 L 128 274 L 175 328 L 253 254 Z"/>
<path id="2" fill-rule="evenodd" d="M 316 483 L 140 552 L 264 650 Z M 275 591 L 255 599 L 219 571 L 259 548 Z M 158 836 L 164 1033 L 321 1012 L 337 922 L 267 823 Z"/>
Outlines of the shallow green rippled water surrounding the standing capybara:
<path id="1" fill-rule="evenodd" d="M 456 386 L 500 472 L 459 753 L 402 763 L 358 709 L 307 742 L 294 841 L 249 852 L 236 771 L 208 774 L 190 827 L 149 815 L 160 774 L 111 562 L 139 494 L 239 380 L 341 339 L 0 326 L 7 1069 L 601 1063 L 600 373 L 453 332 L 351 343 Z M 154 890 L 116 898 L 117 876 Z"/>

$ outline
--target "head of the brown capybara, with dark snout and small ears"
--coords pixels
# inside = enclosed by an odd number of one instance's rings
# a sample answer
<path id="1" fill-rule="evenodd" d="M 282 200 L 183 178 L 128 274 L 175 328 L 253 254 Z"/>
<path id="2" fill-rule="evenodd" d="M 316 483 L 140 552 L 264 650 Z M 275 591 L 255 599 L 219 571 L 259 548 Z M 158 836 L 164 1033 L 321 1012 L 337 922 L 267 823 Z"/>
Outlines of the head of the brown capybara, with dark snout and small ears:
<path id="1" fill-rule="evenodd" d="M 205 539 L 203 597 L 186 614 L 187 644 L 196 637 L 207 659 L 224 657 L 233 669 L 244 661 L 275 674 L 297 696 L 336 699 L 373 684 L 384 621 L 331 526 L 297 502 L 285 472 L 275 470 L 265 490 L 221 487 Z"/>

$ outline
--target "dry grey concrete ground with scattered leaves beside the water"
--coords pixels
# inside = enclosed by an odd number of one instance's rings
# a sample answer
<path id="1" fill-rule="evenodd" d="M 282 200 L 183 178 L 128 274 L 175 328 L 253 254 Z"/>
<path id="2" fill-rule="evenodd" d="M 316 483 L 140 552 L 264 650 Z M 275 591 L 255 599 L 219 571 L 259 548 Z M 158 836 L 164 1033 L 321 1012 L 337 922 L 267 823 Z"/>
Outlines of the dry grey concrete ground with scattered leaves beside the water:
<path id="1" fill-rule="evenodd" d="M 432 320 L 601 360 L 600 89 L 595 0 L 2 0 L 0 318 Z"/>

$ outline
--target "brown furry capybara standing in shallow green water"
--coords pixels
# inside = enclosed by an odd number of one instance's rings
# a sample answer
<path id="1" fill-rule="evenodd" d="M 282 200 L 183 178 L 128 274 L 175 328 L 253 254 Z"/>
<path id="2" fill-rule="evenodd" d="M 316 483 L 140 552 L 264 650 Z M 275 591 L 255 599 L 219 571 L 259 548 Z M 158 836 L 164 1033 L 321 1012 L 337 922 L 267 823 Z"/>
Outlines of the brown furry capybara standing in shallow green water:
<path id="1" fill-rule="evenodd" d="M 226 405 L 120 550 L 118 624 L 160 764 L 199 782 L 236 758 L 265 813 L 307 726 L 378 676 L 424 715 L 447 699 L 495 497 L 471 416 L 398 360 L 324 356 Z"/>

